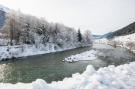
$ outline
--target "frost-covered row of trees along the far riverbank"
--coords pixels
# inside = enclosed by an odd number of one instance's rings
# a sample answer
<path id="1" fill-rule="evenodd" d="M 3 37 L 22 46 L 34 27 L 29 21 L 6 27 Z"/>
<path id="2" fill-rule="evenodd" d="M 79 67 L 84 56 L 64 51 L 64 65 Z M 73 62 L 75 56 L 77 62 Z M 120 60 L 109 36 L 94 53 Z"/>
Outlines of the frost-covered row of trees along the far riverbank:
<path id="1" fill-rule="evenodd" d="M 30 44 L 37 45 L 52 43 L 59 47 L 65 45 L 78 46 L 91 44 L 91 32 L 67 27 L 59 23 L 49 23 L 44 18 L 25 15 L 19 11 L 11 11 L 6 15 L 2 28 L 9 40 L 9 45 Z"/>

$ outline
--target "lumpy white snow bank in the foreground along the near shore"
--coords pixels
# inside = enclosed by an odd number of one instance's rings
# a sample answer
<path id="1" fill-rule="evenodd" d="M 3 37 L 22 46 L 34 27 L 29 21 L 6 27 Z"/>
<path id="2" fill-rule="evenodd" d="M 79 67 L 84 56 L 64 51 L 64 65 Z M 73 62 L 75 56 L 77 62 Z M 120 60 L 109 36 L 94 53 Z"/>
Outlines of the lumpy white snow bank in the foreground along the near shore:
<path id="1" fill-rule="evenodd" d="M 47 84 L 42 79 L 28 84 L 0 83 L 0 89 L 135 89 L 135 62 L 95 70 L 89 65 L 82 74 Z"/>

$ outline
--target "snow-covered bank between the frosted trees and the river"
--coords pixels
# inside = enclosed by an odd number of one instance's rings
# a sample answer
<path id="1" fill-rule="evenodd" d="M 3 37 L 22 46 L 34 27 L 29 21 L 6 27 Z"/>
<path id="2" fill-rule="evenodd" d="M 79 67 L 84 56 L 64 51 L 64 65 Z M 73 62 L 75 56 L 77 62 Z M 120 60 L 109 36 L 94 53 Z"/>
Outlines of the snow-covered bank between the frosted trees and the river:
<path id="1" fill-rule="evenodd" d="M 74 48 L 77 48 L 77 46 L 60 48 L 59 46 L 52 43 L 46 44 L 46 46 L 40 44 L 38 47 L 35 45 L 0 46 L 0 61 L 13 57 L 26 57 Z"/>

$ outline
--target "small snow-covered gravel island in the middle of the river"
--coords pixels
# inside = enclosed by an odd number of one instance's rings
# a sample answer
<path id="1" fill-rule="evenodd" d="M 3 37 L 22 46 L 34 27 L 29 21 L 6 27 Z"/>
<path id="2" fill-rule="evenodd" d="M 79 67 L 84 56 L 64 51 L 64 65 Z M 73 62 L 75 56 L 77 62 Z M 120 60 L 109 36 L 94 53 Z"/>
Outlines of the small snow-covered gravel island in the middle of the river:
<path id="1" fill-rule="evenodd" d="M 86 60 L 94 60 L 97 58 L 96 56 L 97 51 L 95 50 L 90 50 L 90 51 L 86 51 L 80 54 L 76 54 L 76 55 L 71 55 L 67 58 L 65 58 L 64 61 L 67 62 L 76 62 L 76 61 L 86 61 Z"/>

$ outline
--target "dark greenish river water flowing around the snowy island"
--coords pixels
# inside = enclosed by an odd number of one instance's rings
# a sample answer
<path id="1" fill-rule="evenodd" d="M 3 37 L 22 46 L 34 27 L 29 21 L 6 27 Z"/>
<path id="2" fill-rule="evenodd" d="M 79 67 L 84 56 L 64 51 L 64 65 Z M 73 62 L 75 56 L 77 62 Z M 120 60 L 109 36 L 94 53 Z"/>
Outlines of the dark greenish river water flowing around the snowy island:
<path id="1" fill-rule="evenodd" d="M 120 65 L 134 61 L 135 55 L 123 48 L 96 49 L 102 52 L 99 58 L 93 61 L 80 61 L 75 63 L 62 62 L 65 57 L 81 53 L 91 48 L 77 48 L 69 51 L 50 53 L 38 56 L 7 61 L 0 63 L 0 82 L 17 83 L 32 82 L 38 78 L 47 82 L 62 80 L 72 76 L 73 73 L 82 73 L 86 66 L 91 64 L 98 69 L 110 64 Z M 103 56 L 104 55 L 104 56 Z"/>

